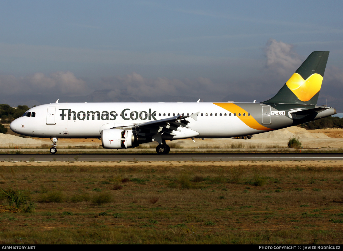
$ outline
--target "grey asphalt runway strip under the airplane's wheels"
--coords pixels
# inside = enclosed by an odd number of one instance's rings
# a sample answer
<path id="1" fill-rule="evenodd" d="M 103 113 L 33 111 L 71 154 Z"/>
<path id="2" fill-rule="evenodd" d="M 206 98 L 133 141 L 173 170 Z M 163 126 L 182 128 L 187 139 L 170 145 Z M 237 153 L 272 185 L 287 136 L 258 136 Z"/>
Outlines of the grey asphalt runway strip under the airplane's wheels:
<path id="1" fill-rule="evenodd" d="M 0 154 L 0 161 L 267 161 L 343 160 L 343 154 Z"/>

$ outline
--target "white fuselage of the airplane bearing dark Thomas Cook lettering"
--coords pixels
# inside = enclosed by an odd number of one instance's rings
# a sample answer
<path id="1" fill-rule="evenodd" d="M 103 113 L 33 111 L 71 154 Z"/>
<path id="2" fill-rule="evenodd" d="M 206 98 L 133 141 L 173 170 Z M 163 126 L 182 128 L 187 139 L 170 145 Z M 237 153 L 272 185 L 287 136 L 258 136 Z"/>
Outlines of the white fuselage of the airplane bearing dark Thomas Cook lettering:
<path id="1" fill-rule="evenodd" d="M 10 127 L 19 134 L 42 138 L 100 138 L 102 129 L 199 112 L 197 120 L 188 119 L 189 129 L 199 133 L 194 138 L 229 138 L 274 130 L 249 124 L 251 120 L 262 123 L 263 104 L 248 103 L 251 111 L 238 106 L 247 103 L 232 104 L 232 110 L 216 104 L 230 103 L 52 103 L 29 109 L 27 113 L 34 112 L 35 117 L 17 118 Z M 291 123 L 287 120 L 282 127 Z M 174 137 L 181 138 L 190 137 L 187 133 Z"/>

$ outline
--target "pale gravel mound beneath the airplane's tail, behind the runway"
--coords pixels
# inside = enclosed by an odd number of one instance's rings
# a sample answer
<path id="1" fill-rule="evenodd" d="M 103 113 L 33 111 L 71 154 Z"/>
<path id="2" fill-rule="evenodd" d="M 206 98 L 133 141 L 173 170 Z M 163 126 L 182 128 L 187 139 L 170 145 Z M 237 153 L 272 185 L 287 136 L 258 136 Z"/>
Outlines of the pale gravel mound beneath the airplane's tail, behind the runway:
<path id="1" fill-rule="evenodd" d="M 289 139 L 292 137 L 298 137 L 299 139 L 326 139 L 327 135 L 321 132 L 310 133 L 304 128 L 300 127 L 288 127 L 272 132 L 264 132 L 253 135 L 255 139 Z"/>

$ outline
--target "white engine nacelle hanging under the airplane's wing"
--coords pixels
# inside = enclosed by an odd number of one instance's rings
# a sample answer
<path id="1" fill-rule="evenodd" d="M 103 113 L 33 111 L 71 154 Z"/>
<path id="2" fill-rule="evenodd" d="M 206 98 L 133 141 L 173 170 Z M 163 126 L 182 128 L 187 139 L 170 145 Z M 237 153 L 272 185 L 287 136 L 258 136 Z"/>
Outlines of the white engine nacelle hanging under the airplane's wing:
<path id="1" fill-rule="evenodd" d="M 137 140 L 136 140 L 137 141 Z M 104 148 L 121 149 L 138 146 L 132 130 L 104 129 L 101 131 L 101 142 Z"/>

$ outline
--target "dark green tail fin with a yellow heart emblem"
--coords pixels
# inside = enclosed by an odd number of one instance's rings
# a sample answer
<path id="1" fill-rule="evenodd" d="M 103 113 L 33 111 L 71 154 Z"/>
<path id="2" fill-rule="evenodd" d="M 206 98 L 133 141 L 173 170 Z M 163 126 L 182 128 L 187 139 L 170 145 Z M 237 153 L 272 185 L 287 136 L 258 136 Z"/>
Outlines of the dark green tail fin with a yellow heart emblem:
<path id="1" fill-rule="evenodd" d="M 314 51 L 271 99 L 262 103 L 316 105 L 329 51 Z"/>

